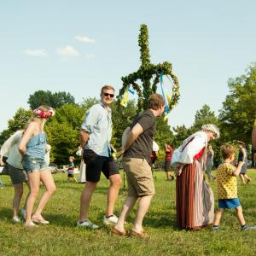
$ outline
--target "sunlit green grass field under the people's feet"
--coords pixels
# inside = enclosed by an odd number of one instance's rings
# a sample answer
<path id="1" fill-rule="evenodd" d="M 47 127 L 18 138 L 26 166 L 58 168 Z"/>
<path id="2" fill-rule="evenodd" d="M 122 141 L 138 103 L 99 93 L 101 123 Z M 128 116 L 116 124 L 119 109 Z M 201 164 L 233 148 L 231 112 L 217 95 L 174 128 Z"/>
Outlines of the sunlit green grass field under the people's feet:
<path id="1" fill-rule="evenodd" d="M 256 224 L 256 170 L 249 170 L 248 174 L 252 182 L 242 185 L 238 181 L 238 191 L 247 224 Z M 241 232 L 235 212 L 224 212 L 216 233 L 212 233 L 210 227 L 201 231 L 178 230 L 175 183 L 166 181 L 165 172 L 154 172 L 157 194 L 144 220 L 145 230 L 150 235 L 145 240 L 113 236 L 109 234 L 109 227 L 102 224 L 108 189 L 104 177 L 90 207 L 90 219 L 101 228 L 77 228 L 79 196 L 84 185 L 67 183 L 66 174 L 54 177 L 57 190 L 44 211 L 50 224 L 25 229 L 23 224 L 11 222 L 13 189 L 9 177 L 1 176 L 4 188 L 0 189 L 0 255 L 256 255 L 256 230 Z M 211 184 L 217 202 L 216 183 Z M 125 195 L 125 189 L 121 189 L 117 215 Z M 131 228 L 134 216 L 132 212 L 127 229 Z"/>

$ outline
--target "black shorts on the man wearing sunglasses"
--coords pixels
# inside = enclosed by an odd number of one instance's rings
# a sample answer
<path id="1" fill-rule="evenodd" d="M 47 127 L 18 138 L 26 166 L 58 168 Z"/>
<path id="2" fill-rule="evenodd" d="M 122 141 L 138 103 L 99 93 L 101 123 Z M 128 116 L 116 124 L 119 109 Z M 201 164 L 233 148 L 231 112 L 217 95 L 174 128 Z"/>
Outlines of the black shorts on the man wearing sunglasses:
<path id="1" fill-rule="evenodd" d="M 85 172 L 87 181 L 97 183 L 100 180 L 101 172 L 107 178 L 111 175 L 119 174 L 119 167 L 112 156 L 102 156 L 90 149 L 85 149 L 83 159 L 86 164 Z"/>

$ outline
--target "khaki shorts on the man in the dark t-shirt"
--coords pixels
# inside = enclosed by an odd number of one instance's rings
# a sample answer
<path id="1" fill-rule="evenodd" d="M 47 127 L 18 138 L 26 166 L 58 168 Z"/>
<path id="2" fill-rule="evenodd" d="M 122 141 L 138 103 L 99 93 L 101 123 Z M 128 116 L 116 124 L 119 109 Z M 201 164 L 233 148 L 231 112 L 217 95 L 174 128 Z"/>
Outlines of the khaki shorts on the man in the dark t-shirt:
<path id="1" fill-rule="evenodd" d="M 154 195 L 154 179 L 147 160 L 124 158 L 123 167 L 127 176 L 128 196 Z"/>

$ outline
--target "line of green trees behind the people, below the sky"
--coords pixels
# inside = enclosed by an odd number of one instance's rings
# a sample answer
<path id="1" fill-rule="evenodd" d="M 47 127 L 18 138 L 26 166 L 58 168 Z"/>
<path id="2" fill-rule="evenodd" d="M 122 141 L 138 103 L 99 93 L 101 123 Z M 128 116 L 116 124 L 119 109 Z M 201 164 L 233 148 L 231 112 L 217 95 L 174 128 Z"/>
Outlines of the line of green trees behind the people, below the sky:
<path id="1" fill-rule="evenodd" d="M 215 162 L 221 160 L 219 146 L 222 143 L 233 143 L 237 140 L 247 144 L 251 152 L 251 131 L 256 119 L 256 63 L 247 68 L 245 74 L 228 81 L 229 93 L 222 103 L 218 116 L 205 104 L 196 111 L 193 125 L 186 127 L 178 125 L 170 129 L 163 117 L 157 120 L 157 132 L 154 140 L 160 146 L 159 160 L 164 160 L 164 145 L 171 143 L 177 148 L 183 139 L 201 129 L 201 125 L 212 123 L 218 125 L 221 137 L 212 143 L 215 151 Z M 73 96 L 67 92 L 52 93 L 49 90 L 38 90 L 28 98 L 31 109 L 40 105 L 55 108 L 55 116 L 46 124 L 45 131 L 48 143 L 51 145 L 51 161 L 57 165 L 67 163 L 69 155 L 75 155 L 79 146 L 79 129 L 84 120 L 84 113 L 95 104 L 96 98 L 86 98 L 76 103 Z M 131 125 L 137 115 L 137 102 L 129 101 L 126 108 L 120 108 L 118 102 L 113 102 L 113 138 L 112 144 L 118 148 L 125 128 Z M 14 117 L 9 119 L 8 128 L 0 133 L 0 144 L 15 131 L 23 129 L 32 117 L 32 111 L 19 108 Z"/>

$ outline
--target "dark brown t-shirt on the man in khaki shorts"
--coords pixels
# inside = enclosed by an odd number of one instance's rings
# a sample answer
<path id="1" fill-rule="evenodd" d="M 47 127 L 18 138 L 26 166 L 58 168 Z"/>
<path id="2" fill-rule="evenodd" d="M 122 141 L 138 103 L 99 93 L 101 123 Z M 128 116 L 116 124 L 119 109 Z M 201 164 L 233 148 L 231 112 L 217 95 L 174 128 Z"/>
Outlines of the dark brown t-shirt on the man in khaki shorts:
<path id="1" fill-rule="evenodd" d="M 149 109 L 140 113 L 133 121 L 131 129 L 137 123 L 142 125 L 143 133 L 137 137 L 137 140 L 125 151 L 124 157 L 146 159 L 150 165 L 150 154 L 153 150 L 153 136 L 155 132 L 154 113 Z"/>

